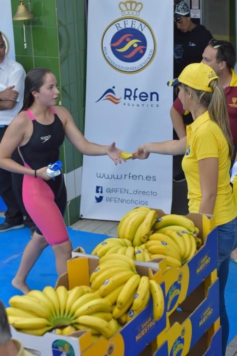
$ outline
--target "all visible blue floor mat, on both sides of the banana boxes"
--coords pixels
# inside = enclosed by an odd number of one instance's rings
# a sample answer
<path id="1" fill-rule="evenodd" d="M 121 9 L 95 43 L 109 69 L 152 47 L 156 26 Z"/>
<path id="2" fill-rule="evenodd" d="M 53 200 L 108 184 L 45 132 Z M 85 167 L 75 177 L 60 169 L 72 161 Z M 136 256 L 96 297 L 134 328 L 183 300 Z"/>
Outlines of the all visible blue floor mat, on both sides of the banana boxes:
<path id="1" fill-rule="evenodd" d="M 4 219 L 0 218 L 0 223 Z M 94 247 L 107 236 L 68 228 L 73 249 L 81 246 L 86 253 L 91 253 Z M 0 233 L 0 299 L 5 306 L 12 295 L 20 292 L 11 286 L 11 280 L 18 269 L 25 245 L 30 240 L 27 227 Z M 230 322 L 229 341 L 237 334 L 237 263 L 230 261 L 229 277 L 226 286 L 226 308 Z M 31 289 L 43 289 L 46 285 L 54 286 L 57 280 L 54 255 L 51 247 L 47 247 L 27 278 Z"/>

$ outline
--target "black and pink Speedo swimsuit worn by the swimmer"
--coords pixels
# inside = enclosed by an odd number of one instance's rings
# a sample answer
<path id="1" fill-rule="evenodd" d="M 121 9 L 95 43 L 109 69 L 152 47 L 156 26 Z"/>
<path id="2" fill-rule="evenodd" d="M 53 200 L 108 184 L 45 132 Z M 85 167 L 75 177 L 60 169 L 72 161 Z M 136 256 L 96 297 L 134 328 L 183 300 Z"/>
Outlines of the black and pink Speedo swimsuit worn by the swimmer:
<path id="1" fill-rule="evenodd" d="M 24 146 L 19 147 L 26 167 L 39 169 L 59 159 L 60 146 L 65 137 L 64 127 L 52 107 L 51 111 L 54 121 L 50 125 L 40 124 L 31 111 L 25 111 L 33 123 L 31 138 Z M 27 213 L 40 230 L 37 232 L 44 235 L 49 245 L 68 241 L 68 231 L 63 219 L 67 203 L 63 173 L 50 181 L 24 174 L 22 197 Z"/>

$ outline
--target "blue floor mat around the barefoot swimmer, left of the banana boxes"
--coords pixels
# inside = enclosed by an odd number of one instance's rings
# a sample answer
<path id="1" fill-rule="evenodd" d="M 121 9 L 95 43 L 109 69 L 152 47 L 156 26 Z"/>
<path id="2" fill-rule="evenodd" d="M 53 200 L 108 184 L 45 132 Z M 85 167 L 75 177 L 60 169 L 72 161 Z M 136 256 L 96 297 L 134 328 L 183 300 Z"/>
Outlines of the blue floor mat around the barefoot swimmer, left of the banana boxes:
<path id="1" fill-rule="evenodd" d="M 0 223 L 4 219 L 0 218 Z M 81 246 L 87 253 L 91 253 L 96 245 L 107 236 L 68 228 L 73 249 Z M 12 287 L 11 280 L 16 274 L 23 250 L 30 241 L 29 228 L 10 230 L 0 233 L 0 299 L 4 305 L 12 295 L 20 294 L 19 290 Z M 54 286 L 57 280 L 55 260 L 52 248 L 48 246 L 38 259 L 27 278 L 31 289 L 43 289 L 46 285 Z"/>

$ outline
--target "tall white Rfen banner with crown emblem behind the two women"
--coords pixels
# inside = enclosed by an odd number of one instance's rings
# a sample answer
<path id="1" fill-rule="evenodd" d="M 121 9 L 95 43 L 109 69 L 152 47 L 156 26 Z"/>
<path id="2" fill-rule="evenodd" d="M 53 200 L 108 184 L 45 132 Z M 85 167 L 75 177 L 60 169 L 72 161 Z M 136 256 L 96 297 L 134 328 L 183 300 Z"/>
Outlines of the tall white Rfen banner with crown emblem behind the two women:
<path id="1" fill-rule="evenodd" d="M 89 0 L 85 137 L 134 152 L 172 139 L 173 0 Z M 170 212 L 172 157 L 152 154 L 115 166 L 83 158 L 80 212 L 120 220 L 135 206 Z"/>

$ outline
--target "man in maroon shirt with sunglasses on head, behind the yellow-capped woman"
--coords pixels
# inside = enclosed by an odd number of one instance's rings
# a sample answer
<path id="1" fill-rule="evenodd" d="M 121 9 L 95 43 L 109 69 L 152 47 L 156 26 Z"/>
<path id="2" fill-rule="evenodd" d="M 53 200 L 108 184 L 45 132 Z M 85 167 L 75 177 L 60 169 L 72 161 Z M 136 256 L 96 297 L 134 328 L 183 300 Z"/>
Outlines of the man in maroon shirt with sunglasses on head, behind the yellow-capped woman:
<path id="1" fill-rule="evenodd" d="M 237 160 L 237 74 L 233 70 L 235 61 L 235 51 L 232 44 L 228 41 L 216 39 L 212 39 L 206 46 L 201 61 L 213 68 L 220 78 L 219 82 L 225 91 L 230 130 L 234 144 L 232 164 Z M 170 116 L 173 128 L 179 138 L 186 136 L 186 128 L 182 116 L 184 113 L 181 101 L 176 99 L 170 110 Z M 235 164 L 237 165 L 237 163 Z M 237 262 L 237 249 L 232 252 L 230 257 Z"/>

